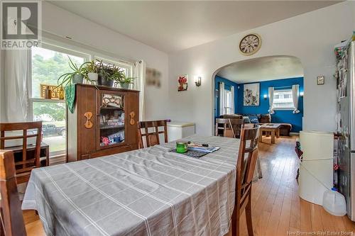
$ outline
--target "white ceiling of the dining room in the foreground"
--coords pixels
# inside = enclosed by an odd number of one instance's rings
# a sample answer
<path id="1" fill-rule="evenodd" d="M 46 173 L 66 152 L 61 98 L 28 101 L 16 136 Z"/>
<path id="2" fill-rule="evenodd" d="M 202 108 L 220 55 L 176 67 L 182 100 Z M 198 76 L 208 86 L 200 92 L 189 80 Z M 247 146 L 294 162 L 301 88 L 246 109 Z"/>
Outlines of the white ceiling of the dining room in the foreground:
<path id="1" fill-rule="evenodd" d="M 184 50 L 338 2 L 50 1 L 164 52 Z"/>

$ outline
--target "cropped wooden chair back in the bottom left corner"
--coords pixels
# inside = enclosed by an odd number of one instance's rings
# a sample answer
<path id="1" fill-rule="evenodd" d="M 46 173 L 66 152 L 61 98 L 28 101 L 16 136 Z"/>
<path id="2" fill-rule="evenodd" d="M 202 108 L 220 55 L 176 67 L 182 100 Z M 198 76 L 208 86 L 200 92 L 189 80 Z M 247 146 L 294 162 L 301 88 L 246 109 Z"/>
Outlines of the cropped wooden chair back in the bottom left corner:
<path id="1" fill-rule="evenodd" d="M 0 235 L 26 235 L 15 174 L 13 152 L 0 150 Z"/>

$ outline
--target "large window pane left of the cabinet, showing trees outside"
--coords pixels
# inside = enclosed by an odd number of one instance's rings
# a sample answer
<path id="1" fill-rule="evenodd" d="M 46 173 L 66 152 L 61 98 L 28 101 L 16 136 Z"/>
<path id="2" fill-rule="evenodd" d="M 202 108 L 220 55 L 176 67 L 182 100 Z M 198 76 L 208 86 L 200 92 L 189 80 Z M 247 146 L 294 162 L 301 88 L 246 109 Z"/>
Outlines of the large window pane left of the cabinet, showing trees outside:
<path id="1" fill-rule="evenodd" d="M 43 121 L 43 142 L 49 145 L 50 156 L 65 153 L 65 101 L 40 97 L 40 84 L 56 85 L 60 75 L 70 71 L 68 56 L 76 64 L 88 55 L 45 45 L 31 49 L 30 113 L 33 120 Z"/>

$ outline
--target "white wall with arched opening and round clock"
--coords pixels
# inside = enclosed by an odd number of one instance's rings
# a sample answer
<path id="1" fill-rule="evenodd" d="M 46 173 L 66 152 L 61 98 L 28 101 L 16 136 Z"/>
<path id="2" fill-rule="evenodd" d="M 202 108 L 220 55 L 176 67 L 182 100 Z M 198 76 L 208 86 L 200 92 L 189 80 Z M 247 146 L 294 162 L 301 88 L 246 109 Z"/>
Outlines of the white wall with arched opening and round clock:
<path id="1" fill-rule="evenodd" d="M 214 72 L 220 67 L 269 55 L 299 57 L 305 70 L 304 130 L 334 130 L 336 82 L 333 79 L 334 45 L 348 39 L 354 29 L 355 2 L 344 2 L 271 23 L 212 43 L 169 55 L 169 113 L 172 119 L 197 123 L 200 135 L 212 134 L 214 108 Z M 261 35 L 261 50 L 245 57 L 239 53 L 239 40 L 246 34 Z M 177 91 L 178 74 L 188 74 L 188 90 Z M 202 86 L 192 75 L 202 75 Z M 316 85 L 317 75 L 325 75 L 325 84 Z"/>

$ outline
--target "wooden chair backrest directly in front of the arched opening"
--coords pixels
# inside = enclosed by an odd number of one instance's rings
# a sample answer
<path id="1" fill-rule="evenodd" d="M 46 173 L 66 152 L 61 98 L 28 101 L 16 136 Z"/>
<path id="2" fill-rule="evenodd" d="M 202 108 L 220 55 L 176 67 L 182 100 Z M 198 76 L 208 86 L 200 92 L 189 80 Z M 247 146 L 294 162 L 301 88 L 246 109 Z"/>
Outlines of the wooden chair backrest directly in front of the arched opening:
<path id="1" fill-rule="evenodd" d="M 219 135 L 222 130 L 223 137 L 239 137 L 244 120 L 239 118 L 217 118 L 215 135 Z"/>

